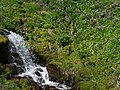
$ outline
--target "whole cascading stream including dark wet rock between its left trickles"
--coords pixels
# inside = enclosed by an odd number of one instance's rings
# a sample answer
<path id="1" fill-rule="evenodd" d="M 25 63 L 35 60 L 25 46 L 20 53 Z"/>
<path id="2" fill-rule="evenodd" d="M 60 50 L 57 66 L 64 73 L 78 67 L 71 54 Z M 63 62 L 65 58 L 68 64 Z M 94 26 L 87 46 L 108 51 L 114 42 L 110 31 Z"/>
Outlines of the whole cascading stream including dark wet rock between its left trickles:
<path id="1" fill-rule="evenodd" d="M 34 63 L 36 57 L 30 52 L 30 48 L 26 45 L 23 37 L 12 31 L 5 31 L 6 37 L 9 39 L 9 50 L 12 63 L 18 67 L 20 77 L 32 79 L 39 86 L 44 88 L 45 85 L 54 86 L 58 90 L 69 90 L 71 87 L 50 81 L 50 77 L 46 67 Z"/>

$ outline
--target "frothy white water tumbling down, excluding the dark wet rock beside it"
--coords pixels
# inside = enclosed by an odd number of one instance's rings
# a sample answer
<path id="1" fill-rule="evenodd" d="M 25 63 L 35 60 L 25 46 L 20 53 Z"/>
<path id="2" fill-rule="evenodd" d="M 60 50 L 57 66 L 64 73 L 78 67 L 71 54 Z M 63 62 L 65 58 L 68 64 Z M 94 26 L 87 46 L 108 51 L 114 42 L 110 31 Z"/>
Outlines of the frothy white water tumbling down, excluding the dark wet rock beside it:
<path id="1" fill-rule="evenodd" d="M 15 63 L 16 66 L 19 66 L 23 69 L 23 72 L 19 74 L 19 76 L 21 77 L 29 76 L 33 79 L 33 81 L 35 81 L 36 83 L 38 83 L 40 86 L 43 87 L 44 85 L 49 85 L 49 86 L 55 86 L 57 89 L 60 90 L 70 89 L 70 87 L 68 87 L 67 85 L 50 81 L 46 67 L 33 63 L 34 60 L 31 58 L 32 54 L 29 52 L 29 48 L 27 48 L 25 41 L 20 35 L 10 31 L 10 34 L 6 36 L 8 37 L 10 42 L 14 45 L 14 48 L 16 49 L 16 53 L 21 58 L 18 60 L 22 60 L 23 65 L 19 63 Z M 11 53 L 13 52 L 12 49 L 10 51 Z"/>

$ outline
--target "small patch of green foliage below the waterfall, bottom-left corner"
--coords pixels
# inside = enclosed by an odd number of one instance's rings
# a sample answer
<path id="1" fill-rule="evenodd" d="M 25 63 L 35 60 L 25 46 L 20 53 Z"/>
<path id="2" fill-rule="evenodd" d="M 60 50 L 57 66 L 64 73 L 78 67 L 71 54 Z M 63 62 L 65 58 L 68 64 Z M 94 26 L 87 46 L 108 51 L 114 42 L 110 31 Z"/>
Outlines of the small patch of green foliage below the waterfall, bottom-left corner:
<path id="1" fill-rule="evenodd" d="M 11 69 L 0 65 L 0 89 L 1 90 L 31 90 L 31 86 L 28 84 L 28 80 L 20 79 L 18 82 L 16 79 L 7 80 L 11 75 Z"/>

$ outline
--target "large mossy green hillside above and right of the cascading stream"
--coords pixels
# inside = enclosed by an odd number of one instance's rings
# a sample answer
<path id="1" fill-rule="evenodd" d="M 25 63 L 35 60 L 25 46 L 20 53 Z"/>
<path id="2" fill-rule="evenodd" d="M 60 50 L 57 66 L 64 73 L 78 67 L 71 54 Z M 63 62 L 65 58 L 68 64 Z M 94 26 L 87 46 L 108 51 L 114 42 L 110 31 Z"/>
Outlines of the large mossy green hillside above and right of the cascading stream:
<path id="1" fill-rule="evenodd" d="M 0 27 L 58 65 L 75 90 L 119 90 L 119 0 L 0 0 Z"/>

